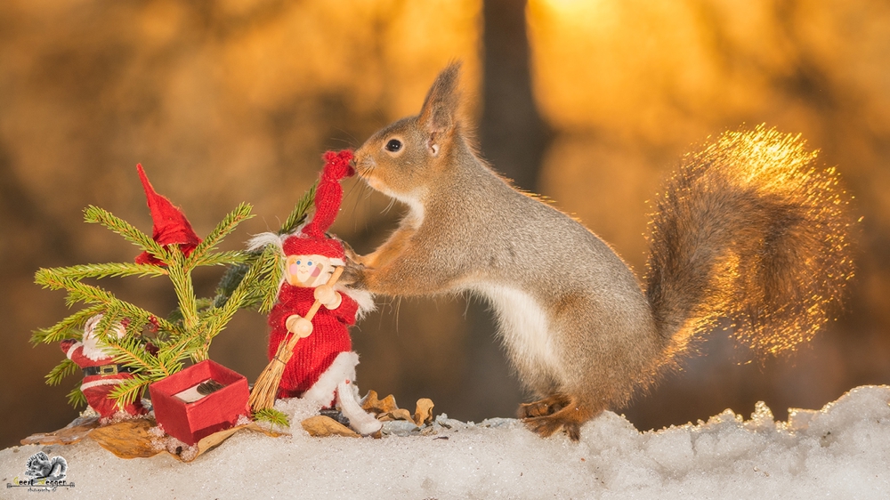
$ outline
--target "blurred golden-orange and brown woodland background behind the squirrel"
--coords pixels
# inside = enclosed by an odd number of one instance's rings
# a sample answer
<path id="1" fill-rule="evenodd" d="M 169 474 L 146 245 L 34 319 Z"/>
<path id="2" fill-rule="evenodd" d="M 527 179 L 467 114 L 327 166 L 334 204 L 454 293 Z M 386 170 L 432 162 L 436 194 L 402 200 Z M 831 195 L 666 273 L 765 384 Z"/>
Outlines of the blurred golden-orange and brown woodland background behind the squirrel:
<path id="1" fill-rule="evenodd" d="M 0 4 L 0 447 L 69 423 L 44 385 L 62 357 L 28 344 L 66 315 L 38 267 L 132 260 L 82 222 L 87 205 L 142 230 L 134 165 L 204 235 L 240 201 L 258 216 L 227 242 L 275 230 L 321 168 L 414 114 L 438 70 L 465 62 L 481 150 L 519 186 L 553 198 L 637 271 L 646 200 L 677 159 L 766 123 L 802 133 L 856 197 L 859 269 L 848 308 L 788 358 L 750 362 L 725 332 L 703 356 L 620 411 L 659 428 L 753 411 L 779 418 L 860 384 L 890 383 L 890 4 L 883 0 L 12 0 Z M 361 253 L 400 206 L 346 184 L 335 232 Z M 480 235 L 482 237 L 482 235 Z M 222 270 L 198 273 L 212 294 Z M 103 282 L 166 314 L 168 283 Z M 479 421 L 522 398 L 475 301 L 379 299 L 355 328 L 363 391 Z M 253 380 L 264 318 L 240 312 L 211 356 Z"/>

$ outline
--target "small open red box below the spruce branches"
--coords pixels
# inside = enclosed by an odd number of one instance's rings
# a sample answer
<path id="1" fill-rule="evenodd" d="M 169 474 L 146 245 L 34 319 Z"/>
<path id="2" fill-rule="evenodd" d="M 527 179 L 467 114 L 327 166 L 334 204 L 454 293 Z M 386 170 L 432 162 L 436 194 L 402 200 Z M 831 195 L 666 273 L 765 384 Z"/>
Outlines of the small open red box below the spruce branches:
<path id="1" fill-rule="evenodd" d="M 207 379 L 223 388 L 190 403 L 176 396 Z M 247 379 L 210 359 L 152 383 L 149 393 L 158 424 L 167 434 L 190 446 L 214 432 L 233 427 L 239 415 L 250 415 Z"/>

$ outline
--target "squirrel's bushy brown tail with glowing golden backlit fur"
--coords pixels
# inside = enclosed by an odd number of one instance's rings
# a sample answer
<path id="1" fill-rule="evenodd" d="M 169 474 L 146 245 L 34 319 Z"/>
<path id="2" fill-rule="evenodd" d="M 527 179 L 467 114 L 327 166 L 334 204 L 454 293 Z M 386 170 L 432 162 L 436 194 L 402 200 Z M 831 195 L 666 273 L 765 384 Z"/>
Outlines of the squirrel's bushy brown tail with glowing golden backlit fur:
<path id="1" fill-rule="evenodd" d="M 645 280 L 667 359 L 724 318 L 772 353 L 828 321 L 854 266 L 848 197 L 815 157 L 763 125 L 684 157 L 656 202 Z"/>

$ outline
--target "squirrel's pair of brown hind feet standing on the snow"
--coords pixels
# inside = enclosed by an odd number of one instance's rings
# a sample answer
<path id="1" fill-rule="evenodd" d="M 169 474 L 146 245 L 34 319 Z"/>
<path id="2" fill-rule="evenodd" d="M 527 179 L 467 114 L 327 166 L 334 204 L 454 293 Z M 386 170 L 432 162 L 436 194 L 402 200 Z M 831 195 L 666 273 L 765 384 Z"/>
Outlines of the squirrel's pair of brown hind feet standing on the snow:
<path id="1" fill-rule="evenodd" d="M 595 415 L 577 398 L 564 395 L 523 404 L 519 413 L 522 422 L 540 437 L 549 438 L 562 429 L 573 441 L 581 438 L 581 425 Z"/>

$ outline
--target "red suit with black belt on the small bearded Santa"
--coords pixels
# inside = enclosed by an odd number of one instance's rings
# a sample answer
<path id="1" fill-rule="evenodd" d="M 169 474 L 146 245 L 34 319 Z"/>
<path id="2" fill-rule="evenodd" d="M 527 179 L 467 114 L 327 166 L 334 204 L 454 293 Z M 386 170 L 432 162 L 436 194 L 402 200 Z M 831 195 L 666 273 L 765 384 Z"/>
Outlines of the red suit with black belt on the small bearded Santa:
<path id="1" fill-rule="evenodd" d="M 122 371 L 127 368 L 115 364 L 114 359 L 105 354 L 101 348 L 84 346 L 74 339 L 61 341 L 61 350 L 68 359 L 77 363 L 84 369 L 84 381 L 80 384 L 80 390 L 86 396 L 86 402 L 106 419 L 114 416 L 119 411 L 129 415 L 144 415 L 147 410 L 142 407 L 142 402 L 136 399 L 133 403 L 121 406 L 109 394 L 117 388 L 119 383 L 133 378 L 133 374 Z"/>

